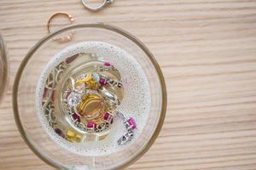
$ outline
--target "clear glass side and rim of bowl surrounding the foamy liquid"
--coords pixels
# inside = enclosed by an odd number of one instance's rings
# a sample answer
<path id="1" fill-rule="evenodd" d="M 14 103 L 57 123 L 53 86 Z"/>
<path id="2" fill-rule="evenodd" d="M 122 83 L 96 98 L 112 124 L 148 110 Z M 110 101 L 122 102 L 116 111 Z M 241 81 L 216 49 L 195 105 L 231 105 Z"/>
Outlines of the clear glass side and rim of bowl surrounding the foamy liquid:
<path id="1" fill-rule="evenodd" d="M 54 41 L 55 37 L 70 31 L 75 33 L 72 41 Z M 79 156 L 65 150 L 49 138 L 36 113 L 37 83 L 49 59 L 63 48 L 86 41 L 108 42 L 124 49 L 137 59 L 150 86 L 151 107 L 143 133 L 129 147 L 108 156 Z M 160 133 L 166 115 L 166 85 L 154 56 L 130 33 L 104 24 L 75 25 L 44 37 L 26 54 L 15 77 L 13 106 L 21 136 L 49 165 L 60 169 L 122 169 L 143 156 Z"/>

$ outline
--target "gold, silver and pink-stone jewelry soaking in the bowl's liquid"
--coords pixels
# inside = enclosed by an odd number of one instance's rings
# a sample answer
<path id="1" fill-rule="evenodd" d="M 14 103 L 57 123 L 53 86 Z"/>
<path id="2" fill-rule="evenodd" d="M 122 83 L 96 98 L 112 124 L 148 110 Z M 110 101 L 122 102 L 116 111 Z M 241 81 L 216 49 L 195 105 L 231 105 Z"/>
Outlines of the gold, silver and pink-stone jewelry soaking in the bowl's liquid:
<path id="1" fill-rule="evenodd" d="M 50 71 L 42 107 L 55 133 L 72 143 L 105 139 L 113 123 L 122 121 L 127 132 L 118 139 L 120 145 L 130 142 L 137 128 L 133 117 L 115 111 L 123 95 L 119 71 L 96 54 L 81 53 Z"/>

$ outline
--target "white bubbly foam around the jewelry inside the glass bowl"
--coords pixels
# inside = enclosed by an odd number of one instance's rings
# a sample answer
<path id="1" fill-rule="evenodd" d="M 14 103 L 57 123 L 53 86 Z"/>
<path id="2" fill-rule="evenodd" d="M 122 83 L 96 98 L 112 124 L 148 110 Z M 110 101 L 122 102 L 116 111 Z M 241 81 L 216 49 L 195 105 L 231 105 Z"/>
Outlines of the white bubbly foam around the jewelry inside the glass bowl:
<path id="1" fill-rule="evenodd" d="M 131 140 L 131 143 L 125 145 L 117 144 L 117 140 L 125 134 L 125 127 L 123 122 L 119 119 L 113 124 L 107 138 L 96 143 L 70 143 L 56 134 L 54 129 L 49 126 L 49 122 L 44 116 L 41 105 L 46 79 L 50 71 L 52 71 L 56 65 L 59 65 L 61 61 L 79 53 L 97 54 L 100 59 L 107 60 L 119 70 L 124 87 L 124 99 L 116 111 L 125 113 L 127 117 L 134 117 L 137 122 L 137 130 L 135 131 L 135 137 Z M 148 79 L 142 67 L 137 63 L 137 60 L 123 49 L 106 42 L 79 42 L 55 54 L 55 56 L 49 60 L 49 63 L 46 65 L 39 78 L 36 95 L 38 117 L 51 139 L 66 150 L 81 156 L 108 156 L 113 152 L 122 150 L 124 147 L 129 147 L 143 132 L 143 127 L 145 127 L 148 119 L 151 102 Z"/>

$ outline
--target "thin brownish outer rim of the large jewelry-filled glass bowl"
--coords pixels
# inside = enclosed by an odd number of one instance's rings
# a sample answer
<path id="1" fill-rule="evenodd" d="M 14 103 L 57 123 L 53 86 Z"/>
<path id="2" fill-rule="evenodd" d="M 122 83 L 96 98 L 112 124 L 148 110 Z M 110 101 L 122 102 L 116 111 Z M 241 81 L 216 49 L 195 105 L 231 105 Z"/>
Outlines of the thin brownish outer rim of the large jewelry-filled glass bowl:
<path id="1" fill-rule="evenodd" d="M 15 116 L 15 122 L 16 125 L 20 131 L 20 135 L 23 138 L 23 140 L 26 142 L 28 147 L 34 152 L 36 156 L 38 156 L 41 160 L 46 162 L 52 167 L 55 168 L 61 168 L 61 169 L 67 169 L 67 167 L 64 167 L 60 165 L 59 163 L 55 162 L 54 160 L 50 159 L 47 156 L 44 156 L 43 153 L 41 153 L 37 148 L 32 144 L 28 136 L 26 135 L 26 131 L 22 126 L 22 123 L 20 121 L 20 113 L 18 109 L 18 90 L 19 90 L 19 84 L 20 84 L 20 77 L 22 75 L 23 70 L 26 67 L 27 62 L 29 59 L 32 58 L 32 55 L 40 48 L 44 42 L 47 42 L 50 38 L 54 37 L 55 35 L 72 30 L 72 29 L 79 29 L 79 28 L 102 28 L 108 31 L 113 31 L 115 33 L 119 33 L 122 36 L 130 39 L 132 42 L 136 43 L 139 48 L 143 50 L 143 52 L 148 56 L 148 59 L 150 59 L 151 63 L 154 65 L 155 71 L 157 72 L 159 81 L 160 81 L 160 88 L 161 88 L 161 94 L 162 94 L 162 102 L 161 102 L 161 108 L 160 108 L 160 119 L 157 123 L 156 128 L 154 129 L 154 133 L 149 139 L 148 143 L 144 146 L 143 150 L 140 150 L 137 155 L 132 156 L 129 161 L 126 161 L 124 164 L 118 165 L 117 167 L 113 167 L 114 169 L 124 169 L 125 167 L 130 166 L 133 162 L 137 161 L 141 156 L 143 156 L 151 147 L 152 144 L 154 144 L 155 139 L 158 137 L 160 133 L 160 129 L 163 126 L 165 117 L 166 117 L 166 105 L 167 105 L 167 94 L 166 94 L 166 82 L 164 79 L 164 76 L 162 74 L 162 71 L 160 70 L 160 65 L 157 63 L 156 59 L 154 58 L 154 55 L 149 51 L 149 49 L 141 42 L 140 40 L 137 39 L 137 37 L 132 36 L 129 32 L 116 27 L 116 26 L 111 26 L 111 25 L 106 25 L 103 23 L 99 24 L 77 24 L 77 25 L 72 25 L 72 26 L 67 26 L 62 28 L 61 30 L 54 31 L 50 33 L 49 35 L 43 37 L 41 40 L 39 40 L 31 49 L 30 51 L 26 54 L 25 58 L 22 60 L 20 67 L 16 73 L 15 76 L 15 82 L 14 82 L 14 88 L 13 88 L 13 111 L 14 111 L 14 116 Z"/>

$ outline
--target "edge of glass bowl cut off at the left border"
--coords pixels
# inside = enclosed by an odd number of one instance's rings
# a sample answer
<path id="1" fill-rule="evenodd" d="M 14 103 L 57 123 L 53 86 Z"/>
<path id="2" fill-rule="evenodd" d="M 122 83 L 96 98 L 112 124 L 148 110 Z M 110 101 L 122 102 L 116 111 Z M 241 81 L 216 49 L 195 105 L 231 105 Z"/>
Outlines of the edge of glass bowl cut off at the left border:
<path id="1" fill-rule="evenodd" d="M 3 99 L 3 95 L 8 84 L 8 61 L 6 55 L 3 37 L 0 34 L 0 102 Z"/>

